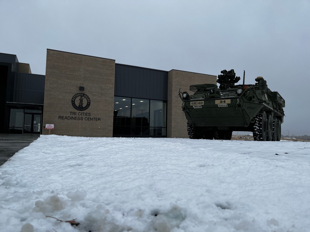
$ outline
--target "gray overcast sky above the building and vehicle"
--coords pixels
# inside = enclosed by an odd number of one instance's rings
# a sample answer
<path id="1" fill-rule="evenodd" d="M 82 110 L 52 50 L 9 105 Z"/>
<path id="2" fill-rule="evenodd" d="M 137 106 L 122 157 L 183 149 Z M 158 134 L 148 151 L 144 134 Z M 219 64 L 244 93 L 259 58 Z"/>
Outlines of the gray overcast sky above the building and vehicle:
<path id="1" fill-rule="evenodd" d="M 263 76 L 285 99 L 282 134 L 310 135 L 309 12 L 309 0 L 0 0 L 0 52 L 43 75 L 47 48 L 165 71 L 245 70 L 246 84 Z"/>

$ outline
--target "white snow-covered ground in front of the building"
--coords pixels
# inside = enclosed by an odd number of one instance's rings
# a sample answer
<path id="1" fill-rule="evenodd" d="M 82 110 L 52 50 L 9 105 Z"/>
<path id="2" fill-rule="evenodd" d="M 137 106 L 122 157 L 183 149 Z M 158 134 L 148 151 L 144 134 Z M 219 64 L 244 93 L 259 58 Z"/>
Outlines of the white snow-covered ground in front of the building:
<path id="1" fill-rule="evenodd" d="M 41 135 L 0 166 L 0 231 L 308 232 L 309 163 L 307 142 Z"/>

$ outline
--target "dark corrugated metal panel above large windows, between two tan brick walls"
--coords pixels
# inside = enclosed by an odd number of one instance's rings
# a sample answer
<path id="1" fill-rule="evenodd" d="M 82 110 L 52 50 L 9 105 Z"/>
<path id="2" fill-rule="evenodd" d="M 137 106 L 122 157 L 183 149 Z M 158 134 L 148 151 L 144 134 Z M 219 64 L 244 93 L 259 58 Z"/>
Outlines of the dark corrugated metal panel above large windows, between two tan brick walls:
<path id="1" fill-rule="evenodd" d="M 168 72 L 115 64 L 114 95 L 167 101 Z"/>

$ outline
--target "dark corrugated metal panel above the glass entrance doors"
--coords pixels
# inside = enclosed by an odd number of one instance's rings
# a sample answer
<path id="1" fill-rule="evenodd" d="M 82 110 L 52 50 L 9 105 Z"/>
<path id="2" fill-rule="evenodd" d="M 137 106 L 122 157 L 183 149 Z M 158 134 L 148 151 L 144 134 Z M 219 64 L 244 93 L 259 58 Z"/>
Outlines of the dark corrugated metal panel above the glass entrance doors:
<path id="1" fill-rule="evenodd" d="M 44 103 L 45 75 L 16 73 L 13 102 Z"/>

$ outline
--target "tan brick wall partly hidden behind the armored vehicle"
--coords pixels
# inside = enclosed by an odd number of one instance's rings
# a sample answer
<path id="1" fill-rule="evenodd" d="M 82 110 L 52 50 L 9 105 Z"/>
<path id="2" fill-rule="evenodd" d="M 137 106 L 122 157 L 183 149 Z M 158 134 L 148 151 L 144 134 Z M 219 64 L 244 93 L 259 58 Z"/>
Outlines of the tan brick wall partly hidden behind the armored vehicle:
<path id="1" fill-rule="evenodd" d="M 179 98 L 181 92 L 187 91 L 192 84 L 216 84 L 217 76 L 200 73 L 171 70 L 168 72 L 168 102 L 167 102 L 167 137 L 188 138 L 187 119 L 182 111 L 182 101 Z"/>

